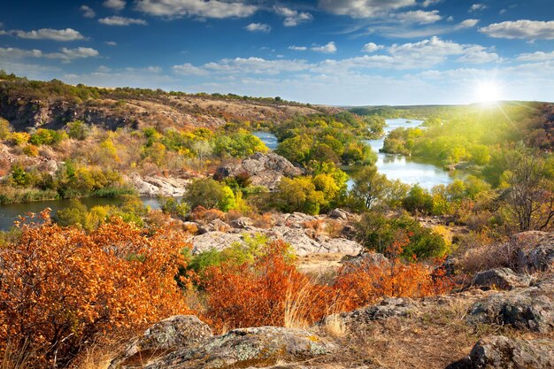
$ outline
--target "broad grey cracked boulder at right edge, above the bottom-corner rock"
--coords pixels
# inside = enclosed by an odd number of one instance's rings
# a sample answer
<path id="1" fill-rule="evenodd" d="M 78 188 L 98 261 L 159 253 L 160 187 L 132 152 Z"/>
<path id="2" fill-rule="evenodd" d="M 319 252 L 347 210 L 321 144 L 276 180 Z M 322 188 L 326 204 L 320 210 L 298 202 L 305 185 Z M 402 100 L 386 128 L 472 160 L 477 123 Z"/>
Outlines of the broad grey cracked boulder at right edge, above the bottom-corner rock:
<path id="1" fill-rule="evenodd" d="M 486 297 L 473 304 L 466 319 L 471 324 L 510 325 L 551 332 L 554 330 L 554 280 Z"/>

